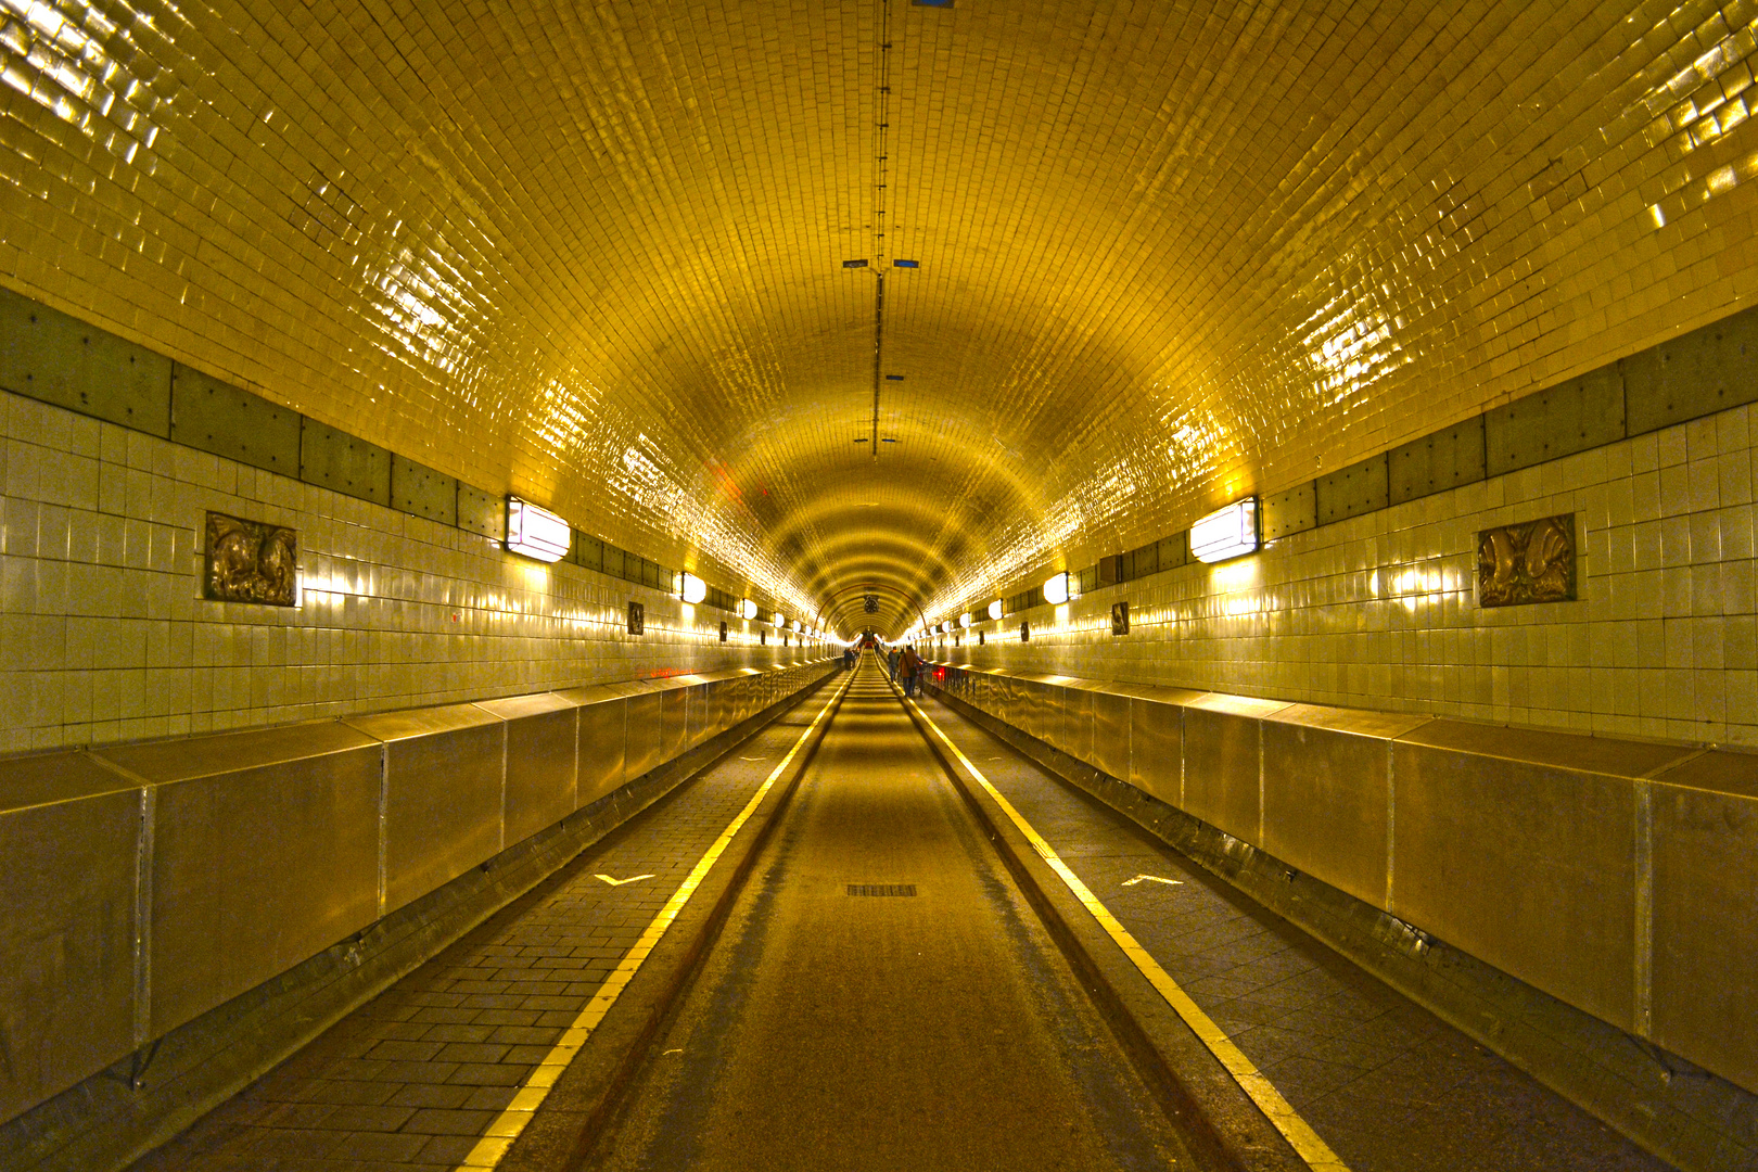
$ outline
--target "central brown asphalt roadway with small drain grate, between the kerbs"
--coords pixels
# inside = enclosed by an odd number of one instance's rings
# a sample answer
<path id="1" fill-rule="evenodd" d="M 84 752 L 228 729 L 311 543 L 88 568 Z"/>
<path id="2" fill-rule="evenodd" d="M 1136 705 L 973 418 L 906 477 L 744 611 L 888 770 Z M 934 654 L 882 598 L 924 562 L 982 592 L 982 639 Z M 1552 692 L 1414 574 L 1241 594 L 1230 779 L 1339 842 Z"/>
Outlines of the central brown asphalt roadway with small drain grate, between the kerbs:
<path id="1" fill-rule="evenodd" d="M 594 1167 L 1195 1167 L 870 657 Z"/>

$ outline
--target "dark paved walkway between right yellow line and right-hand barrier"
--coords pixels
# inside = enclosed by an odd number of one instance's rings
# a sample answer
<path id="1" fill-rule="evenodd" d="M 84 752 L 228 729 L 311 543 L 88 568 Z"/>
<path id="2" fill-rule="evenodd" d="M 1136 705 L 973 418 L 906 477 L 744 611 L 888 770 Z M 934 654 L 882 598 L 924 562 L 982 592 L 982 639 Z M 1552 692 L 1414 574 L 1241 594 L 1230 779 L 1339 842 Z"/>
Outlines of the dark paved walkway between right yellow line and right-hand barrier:
<path id="1" fill-rule="evenodd" d="M 1668 1167 L 939 699 L 925 710 L 1352 1172 Z"/>

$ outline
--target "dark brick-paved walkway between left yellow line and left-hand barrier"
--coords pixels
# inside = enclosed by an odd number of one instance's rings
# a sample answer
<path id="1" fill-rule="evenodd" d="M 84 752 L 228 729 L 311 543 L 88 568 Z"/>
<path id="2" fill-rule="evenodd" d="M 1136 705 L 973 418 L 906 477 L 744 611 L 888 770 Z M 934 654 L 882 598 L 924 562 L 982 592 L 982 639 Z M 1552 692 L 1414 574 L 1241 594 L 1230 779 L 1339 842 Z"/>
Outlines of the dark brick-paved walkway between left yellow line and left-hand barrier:
<path id="1" fill-rule="evenodd" d="M 450 1170 L 798 740 L 807 701 L 135 1172 Z M 610 886 L 596 875 L 652 879 Z"/>

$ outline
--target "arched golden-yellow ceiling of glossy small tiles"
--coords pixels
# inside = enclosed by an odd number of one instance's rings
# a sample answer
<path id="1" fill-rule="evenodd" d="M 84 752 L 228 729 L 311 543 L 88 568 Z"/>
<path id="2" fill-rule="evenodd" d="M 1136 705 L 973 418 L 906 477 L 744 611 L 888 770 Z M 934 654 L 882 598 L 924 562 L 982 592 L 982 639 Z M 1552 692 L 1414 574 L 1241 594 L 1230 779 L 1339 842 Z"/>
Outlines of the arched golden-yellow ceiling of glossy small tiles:
<path id="1" fill-rule="evenodd" d="M 9 283 L 844 629 L 1753 293 L 1712 4 L 0 14 Z"/>

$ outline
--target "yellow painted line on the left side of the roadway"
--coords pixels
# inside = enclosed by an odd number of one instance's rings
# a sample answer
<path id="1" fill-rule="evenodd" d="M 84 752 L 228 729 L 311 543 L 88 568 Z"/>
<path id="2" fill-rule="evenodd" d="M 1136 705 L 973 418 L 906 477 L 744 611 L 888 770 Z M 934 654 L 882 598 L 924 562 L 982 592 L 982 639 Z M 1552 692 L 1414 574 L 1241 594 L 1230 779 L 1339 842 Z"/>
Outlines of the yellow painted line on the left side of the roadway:
<path id="1" fill-rule="evenodd" d="M 652 922 L 647 924 L 647 931 L 642 933 L 642 938 L 622 954 L 622 961 L 617 965 L 615 972 L 605 977 L 605 984 L 598 988 L 598 993 L 585 1003 L 585 1009 L 582 1009 L 573 1019 L 573 1024 L 563 1030 L 556 1045 L 550 1047 L 550 1051 L 543 1056 L 543 1061 L 538 1063 L 536 1070 L 533 1070 L 519 1088 L 519 1093 L 513 1095 L 513 1102 L 510 1102 L 506 1111 L 498 1114 L 494 1121 L 489 1123 L 489 1130 L 483 1132 L 483 1137 L 476 1142 L 469 1154 L 464 1156 L 464 1161 L 454 1168 L 454 1172 L 464 1172 L 466 1168 L 492 1168 L 501 1163 L 501 1158 L 506 1156 L 506 1149 L 513 1146 L 513 1140 L 519 1139 L 519 1133 L 531 1123 L 538 1107 L 543 1105 L 550 1088 L 556 1086 L 556 1079 L 559 1079 L 561 1072 L 568 1068 L 573 1056 L 580 1053 L 580 1047 L 585 1045 L 592 1030 L 598 1028 L 598 1023 L 605 1019 L 605 1014 L 608 1014 L 610 1007 L 617 1003 L 619 996 L 622 996 L 629 980 L 633 980 L 635 973 L 640 972 L 642 963 L 645 963 L 652 951 L 659 945 L 659 938 L 665 937 L 666 928 L 670 928 L 672 921 L 675 921 L 679 912 L 684 910 L 689 898 L 696 894 L 696 887 L 700 887 L 701 880 L 707 879 L 708 868 L 714 866 L 726 847 L 733 842 L 733 836 L 738 835 L 740 828 L 744 828 L 751 815 L 756 814 L 758 807 L 763 805 L 763 799 L 768 796 L 768 791 L 774 789 L 775 780 L 788 770 L 788 764 L 791 764 L 795 756 L 798 756 L 805 740 L 825 720 L 832 705 L 837 703 L 837 696 L 842 696 L 847 689 L 849 680 L 844 680 L 842 687 L 837 689 L 837 694 L 825 701 L 825 706 L 817 710 L 812 722 L 803 733 L 800 733 L 800 740 L 793 743 L 793 749 L 789 749 L 788 756 L 781 759 L 781 764 L 770 771 L 768 780 L 758 787 L 758 792 L 751 796 L 751 801 L 747 801 L 745 808 L 738 812 L 738 817 L 726 824 L 726 829 L 723 829 L 721 836 L 714 840 L 714 845 L 708 847 L 707 854 L 696 861 L 696 866 L 689 872 L 684 882 L 679 884 L 679 889 L 672 893 L 670 900 L 666 900 L 666 905 L 659 908 L 659 912 L 652 917 Z"/>

